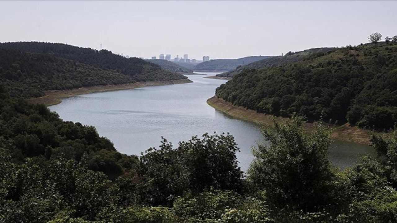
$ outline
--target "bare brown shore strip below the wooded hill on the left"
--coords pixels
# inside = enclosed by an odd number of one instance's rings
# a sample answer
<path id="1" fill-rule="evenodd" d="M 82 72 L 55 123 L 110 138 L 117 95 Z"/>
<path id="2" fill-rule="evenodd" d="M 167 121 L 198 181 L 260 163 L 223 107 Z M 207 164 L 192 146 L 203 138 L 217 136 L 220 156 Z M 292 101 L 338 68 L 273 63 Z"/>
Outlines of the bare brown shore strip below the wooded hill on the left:
<path id="1" fill-rule="evenodd" d="M 113 90 L 127 90 L 149 86 L 177 85 L 192 82 L 193 81 L 189 79 L 181 79 L 170 81 L 145 81 L 120 85 L 95 85 L 90 87 L 73 88 L 70 90 L 47 90 L 44 91 L 44 96 L 41 96 L 39 98 L 29 98 L 27 99 L 27 101 L 33 104 L 44 104 L 45 106 L 52 106 L 61 103 L 63 98 L 70 98 L 80 94 L 91 94 L 96 92 L 106 92 Z"/>

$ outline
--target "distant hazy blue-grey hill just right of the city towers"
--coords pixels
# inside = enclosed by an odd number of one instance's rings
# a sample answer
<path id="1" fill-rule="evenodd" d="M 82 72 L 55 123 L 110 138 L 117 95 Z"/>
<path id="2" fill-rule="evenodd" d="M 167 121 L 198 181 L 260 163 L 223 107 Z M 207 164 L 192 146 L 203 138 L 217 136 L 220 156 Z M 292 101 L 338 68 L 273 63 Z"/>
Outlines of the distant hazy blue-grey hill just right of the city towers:
<path id="1" fill-rule="evenodd" d="M 249 63 L 270 58 L 269 56 L 249 56 L 239 59 L 218 59 L 198 63 L 195 71 L 231 71 L 238 66 L 247 65 Z"/>

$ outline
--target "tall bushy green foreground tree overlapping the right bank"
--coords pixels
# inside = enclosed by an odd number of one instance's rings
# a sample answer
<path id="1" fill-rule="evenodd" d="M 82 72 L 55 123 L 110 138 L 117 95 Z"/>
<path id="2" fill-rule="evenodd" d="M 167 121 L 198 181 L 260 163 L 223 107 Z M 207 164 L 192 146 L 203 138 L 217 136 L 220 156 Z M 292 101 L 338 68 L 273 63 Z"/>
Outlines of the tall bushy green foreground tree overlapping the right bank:
<path id="1" fill-rule="evenodd" d="M 347 181 L 328 160 L 330 131 L 320 124 L 311 134 L 300 128 L 301 119 L 263 129 L 268 144 L 258 144 L 248 180 L 266 191 L 277 210 L 315 212 L 343 208 Z"/>

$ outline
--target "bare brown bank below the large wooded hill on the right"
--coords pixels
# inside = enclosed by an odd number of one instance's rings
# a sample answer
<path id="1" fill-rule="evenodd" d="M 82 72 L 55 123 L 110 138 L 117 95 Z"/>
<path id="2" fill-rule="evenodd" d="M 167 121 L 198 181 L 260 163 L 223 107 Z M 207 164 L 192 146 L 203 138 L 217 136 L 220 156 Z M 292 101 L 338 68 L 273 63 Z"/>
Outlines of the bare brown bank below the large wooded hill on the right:
<path id="1" fill-rule="evenodd" d="M 226 113 L 232 117 L 242 119 L 245 121 L 250 121 L 256 123 L 257 125 L 271 126 L 273 125 L 270 117 L 272 115 L 267 115 L 264 113 L 257 113 L 254 110 L 249 110 L 240 106 L 234 106 L 230 102 L 223 100 L 222 98 L 217 98 L 213 96 L 212 98 L 208 98 L 207 104 L 216 110 Z M 276 117 L 278 121 L 285 121 L 288 118 L 284 117 Z M 304 129 L 307 129 L 309 132 L 313 129 L 313 123 L 303 123 Z M 370 145 L 370 136 L 372 134 L 371 131 L 360 129 L 356 126 L 350 126 L 348 123 L 332 127 L 333 131 L 331 133 L 331 138 L 347 141 L 347 142 L 355 142 L 358 144 Z"/>

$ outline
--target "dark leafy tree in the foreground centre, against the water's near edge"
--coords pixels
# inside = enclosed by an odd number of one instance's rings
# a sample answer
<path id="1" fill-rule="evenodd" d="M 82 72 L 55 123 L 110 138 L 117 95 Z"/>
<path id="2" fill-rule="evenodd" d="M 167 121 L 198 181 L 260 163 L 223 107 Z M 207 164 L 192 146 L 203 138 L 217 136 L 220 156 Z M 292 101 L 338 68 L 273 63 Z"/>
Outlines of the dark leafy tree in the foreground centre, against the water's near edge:
<path id="1" fill-rule="evenodd" d="M 175 149 L 164 139 L 160 149 L 150 148 L 140 158 L 142 197 L 149 204 L 166 204 L 186 192 L 241 190 L 238 150 L 229 134 L 194 136 Z"/>

